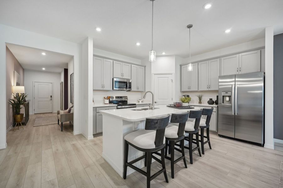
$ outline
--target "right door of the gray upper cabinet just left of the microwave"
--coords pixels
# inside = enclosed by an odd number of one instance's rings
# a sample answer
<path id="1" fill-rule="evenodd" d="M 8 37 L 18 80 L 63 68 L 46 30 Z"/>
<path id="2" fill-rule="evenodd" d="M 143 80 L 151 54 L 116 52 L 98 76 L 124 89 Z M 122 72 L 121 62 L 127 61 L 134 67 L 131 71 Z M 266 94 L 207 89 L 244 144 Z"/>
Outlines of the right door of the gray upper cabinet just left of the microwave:
<path id="1" fill-rule="evenodd" d="M 103 90 L 112 90 L 112 60 L 103 60 Z"/>

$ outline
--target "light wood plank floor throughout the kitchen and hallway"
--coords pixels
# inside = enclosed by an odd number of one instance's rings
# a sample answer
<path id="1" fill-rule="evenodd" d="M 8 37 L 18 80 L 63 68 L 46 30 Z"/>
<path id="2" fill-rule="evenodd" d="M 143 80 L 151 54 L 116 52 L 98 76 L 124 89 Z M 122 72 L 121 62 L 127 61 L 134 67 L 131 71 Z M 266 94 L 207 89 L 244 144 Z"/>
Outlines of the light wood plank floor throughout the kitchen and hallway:
<path id="1" fill-rule="evenodd" d="M 7 149 L 0 150 L 0 187 L 146 187 L 145 176 L 135 172 L 121 178 L 102 158 L 102 136 L 86 140 L 73 135 L 73 127 L 59 125 L 33 127 L 36 117 L 31 115 L 24 130 L 7 133 Z M 188 168 L 183 162 L 175 165 L 175 178 L 170 177 L 170 163 L 166 161 L 169 183 L 163 175 L 151 181 L 151 187 L 177 188 L 270 188 L 278 187 L 283 147 L 265 149 L 211 134 L 212 150 L 205 146 L 205 155 L 193 154 L 194 164 Z M 176 152 L 176 156 L 180 156 Z M 152 164 L 152 173 L 161 169 Z M 143 169 L 146 170 L 146 169 Z"/>

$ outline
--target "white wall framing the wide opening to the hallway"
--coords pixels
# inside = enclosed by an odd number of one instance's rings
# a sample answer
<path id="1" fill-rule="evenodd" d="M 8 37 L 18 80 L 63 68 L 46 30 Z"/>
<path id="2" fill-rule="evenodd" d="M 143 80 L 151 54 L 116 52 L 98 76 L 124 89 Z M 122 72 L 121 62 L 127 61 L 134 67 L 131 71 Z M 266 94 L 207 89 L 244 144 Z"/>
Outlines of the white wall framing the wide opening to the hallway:
<path id="1" fill-rule="evenodd" d="M 6 44 L 18 44 L 74 56 L 74 134 L 81 133 L 81 45 L 0 24 L 0 85 L 6 90 Z M 6 147 L 6 92 L 0 92 L 0 149 Z"/>

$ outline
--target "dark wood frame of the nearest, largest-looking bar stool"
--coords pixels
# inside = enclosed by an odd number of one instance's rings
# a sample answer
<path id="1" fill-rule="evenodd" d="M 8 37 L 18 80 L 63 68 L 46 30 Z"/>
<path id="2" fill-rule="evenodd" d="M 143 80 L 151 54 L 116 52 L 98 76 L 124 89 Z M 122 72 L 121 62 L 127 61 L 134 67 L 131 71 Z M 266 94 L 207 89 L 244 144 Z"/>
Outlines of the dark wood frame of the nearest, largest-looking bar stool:
<path id="1" fill-rule="evenodd" d="M 166 168 L 165 168 L 165 157 L 164 157 L 165 156 L 164 155 L 165 144 L 163 144 L 165 127 L 167 127 L 169 124 L 169 117 L 170 115 L 167 115 L 166 117 L 161 117 L 161 118 L 147 118 L 146 119 L 145 130 L 156 130 L 155 141 L 154 141 L 155 148 L 152 148 L 152 149 L 140 148 L 140 147 L 135 146 L 134 144 L 131 144 L 127 140 L 124 140 L 124 172 L 123 172 L 124 179 L 126 179 L 127 167 L 129 166 L 130 168 L 138 171 L 139 173 L 147 177 L 147 188 L 150 188 L 150 181 L 156 178 L 162 172 L 164 173 L 165 181 L 167 183 L 169 182 L 167 173 L 166 173 Z M 129 145 L 133 146 L 139 151 L 145 152 L 145 154 L 137 159 L 134 159 L 128 162 Z M 161 160 L 152 155 L 153 153 L 155 152 L 157 153 L 158 151 L 161 151 L 161 154 L 160 154 Z M 139 169 L 133 165 L 137 161 L 142 160 L 144 158 L 145 158 L 145 166 L 147 167 L 147 171 Z M 162 169 L 151 176 L 150 167 L 151 167 L 152 158 L 155 159 L 157 162 L 159 162 L 162 165 Z"/>

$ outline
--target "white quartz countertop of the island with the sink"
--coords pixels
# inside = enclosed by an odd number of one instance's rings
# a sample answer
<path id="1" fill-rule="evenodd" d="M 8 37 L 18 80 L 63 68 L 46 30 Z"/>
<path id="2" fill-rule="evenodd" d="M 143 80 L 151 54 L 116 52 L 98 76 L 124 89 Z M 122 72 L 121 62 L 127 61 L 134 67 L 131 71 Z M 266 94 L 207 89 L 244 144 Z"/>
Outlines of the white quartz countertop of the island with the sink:
<path id="1" fill-rule="evenodd" d="M 176 108 L 166 107 L 166 105 L 158 105 L 156 106 L 156 108 L 158 109 L 155 110 L 141 110 L 141 111 L 133 110 L 133 109 L 142 109 L 142 108 L 145 107 L 101 110 L 99 112 L 101 112 L 102 115 L 109 115 L 126 121 L 135 122 L 135 121 L 145 120 L 146 118 L 156 118 L 156 117 L 166 116 L 167 114 L 182 113 L 190 110 L 201 109 L 200 107 L 195 107 L 194 109 L 176 109 Z"/>

